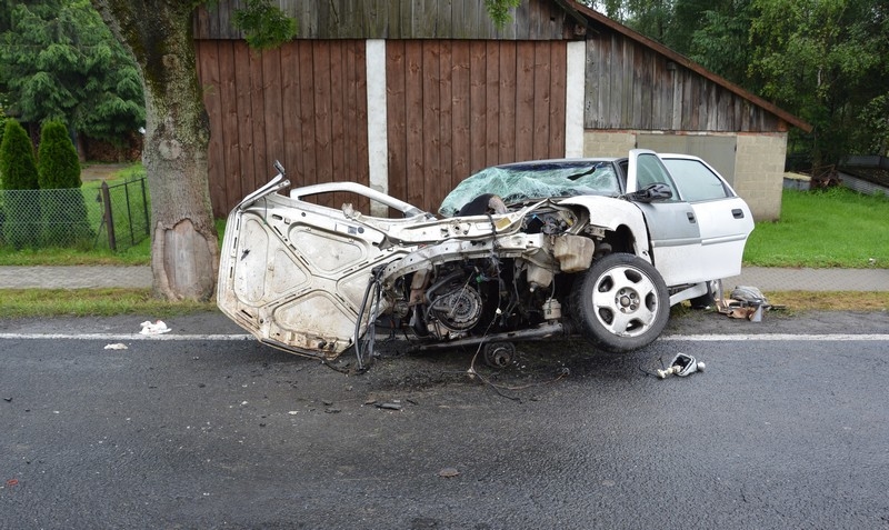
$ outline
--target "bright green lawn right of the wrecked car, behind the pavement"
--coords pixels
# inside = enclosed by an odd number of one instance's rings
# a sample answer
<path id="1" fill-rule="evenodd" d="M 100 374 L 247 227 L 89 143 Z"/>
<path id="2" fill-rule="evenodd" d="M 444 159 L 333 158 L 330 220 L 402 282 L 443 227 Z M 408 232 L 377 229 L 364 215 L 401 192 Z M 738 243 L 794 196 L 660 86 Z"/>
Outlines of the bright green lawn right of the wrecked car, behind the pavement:
<path id="1" fill-rule="evenodd" d="M 889 199 L 845 188 L 785 190 L 781 219 L 757 223 L 743 261 L 758 267 L 889 268 Z"/>

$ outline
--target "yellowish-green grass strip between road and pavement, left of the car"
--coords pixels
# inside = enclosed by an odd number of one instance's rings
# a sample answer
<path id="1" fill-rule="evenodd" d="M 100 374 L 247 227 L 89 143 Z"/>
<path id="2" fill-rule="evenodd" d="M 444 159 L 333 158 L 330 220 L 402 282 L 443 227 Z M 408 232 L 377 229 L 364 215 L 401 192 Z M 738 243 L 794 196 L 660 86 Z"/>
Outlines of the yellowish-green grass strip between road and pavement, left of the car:
<path id="1" fill-rule="evenodd" d="M 213 302 L 169 302 L 150 289 L 0 289 L 3 318 L 113 317 L 151 314 L 170 318 L 214 311 Z"/>

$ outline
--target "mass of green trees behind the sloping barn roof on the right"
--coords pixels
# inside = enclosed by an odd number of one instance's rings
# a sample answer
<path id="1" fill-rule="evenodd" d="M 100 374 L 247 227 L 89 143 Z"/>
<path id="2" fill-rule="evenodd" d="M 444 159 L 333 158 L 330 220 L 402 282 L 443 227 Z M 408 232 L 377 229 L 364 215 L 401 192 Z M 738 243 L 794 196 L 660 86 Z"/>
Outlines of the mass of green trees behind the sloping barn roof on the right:
<path id="1" fill-rule="evenodd" d="M 889 0 L 580 0 L 815 126 L 813 166 L 889 149 Z"/>

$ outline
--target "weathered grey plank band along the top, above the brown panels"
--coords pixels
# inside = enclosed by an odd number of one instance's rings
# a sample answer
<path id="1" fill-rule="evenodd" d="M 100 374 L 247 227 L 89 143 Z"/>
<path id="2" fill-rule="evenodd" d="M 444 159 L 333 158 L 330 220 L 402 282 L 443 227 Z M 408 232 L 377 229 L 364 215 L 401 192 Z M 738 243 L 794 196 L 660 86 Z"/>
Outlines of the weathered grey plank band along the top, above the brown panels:
<path id="1" fill-rule="evenodd" d="M 209 3 L 209 4 L 208 4 Z M 242 39 L 231 13 L 243 0 L 218 0 L 196 10 L 196 39 Z M 299 24 L 298 39 L 562 39 L 566 12 L 552 0 L 527 0 L 503 28 L 482 0 L 273 0 Z M 573 27 L 573 23 L 571 23 Z"/>

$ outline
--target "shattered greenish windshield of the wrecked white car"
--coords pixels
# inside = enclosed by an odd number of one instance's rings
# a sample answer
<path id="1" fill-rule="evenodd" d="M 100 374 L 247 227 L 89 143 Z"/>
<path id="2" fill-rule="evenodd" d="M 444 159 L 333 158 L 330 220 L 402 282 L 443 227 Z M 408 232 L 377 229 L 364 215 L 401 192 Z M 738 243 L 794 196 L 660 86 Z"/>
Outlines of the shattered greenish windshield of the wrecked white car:
<path id="1" fill-rule="evenodd" d="M 472 199 L 492 193 L 509 204 L 527 199 L 582 194 L 618 196 L 620 187 L 608 161 L 548 161 L 488 168 L 467 178 L 441 202 L 439 213 L 453 217 Z"/>

